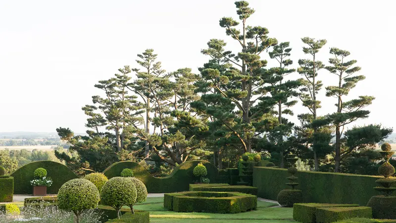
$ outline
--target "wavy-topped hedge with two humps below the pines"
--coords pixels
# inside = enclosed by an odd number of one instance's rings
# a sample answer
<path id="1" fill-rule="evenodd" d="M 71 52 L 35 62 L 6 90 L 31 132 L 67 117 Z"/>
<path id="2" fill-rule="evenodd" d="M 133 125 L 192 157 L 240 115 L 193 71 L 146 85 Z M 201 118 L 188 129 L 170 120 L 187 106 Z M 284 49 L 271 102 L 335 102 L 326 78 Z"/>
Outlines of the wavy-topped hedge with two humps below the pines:
<path id="1" fill-rule="evenodd" d="M 114 163 L 107 167 L 103 173 L 107 178 L 120 176 L 124 168 L 131 168 L 134 176 L 142 180 L 146 185 L 148 193 L 169 193 L 188 191 L 189 184 L 198 180 L 193 174 L 193 169 L 199 163 L 202 163 L 207 169 L 206 177 L 210 182 L 216 182 L 218 179 L 218 170 L 215 166 L 204 161 L 188 161 L 175 167 L 171 174 L 165 177 L 153 177 L 144 167 L 131 161 Z"/>

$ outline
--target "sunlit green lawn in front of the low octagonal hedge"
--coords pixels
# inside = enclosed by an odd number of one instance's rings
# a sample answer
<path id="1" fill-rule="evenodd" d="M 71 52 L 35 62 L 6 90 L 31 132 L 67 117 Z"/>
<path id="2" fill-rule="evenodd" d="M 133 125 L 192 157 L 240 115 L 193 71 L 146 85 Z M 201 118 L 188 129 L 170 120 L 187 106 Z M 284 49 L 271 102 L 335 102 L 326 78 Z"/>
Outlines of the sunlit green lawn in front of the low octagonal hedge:
<path id="1" fill-rule="evenodd" d="M 178 213 L 166 211 L 163 198 L 148 198 L 136 210 L 149 211 L 152 223 L 295 223 L 293 208 L 270 208 L 273 203 L 258 201 L 257 210 L 238 214 Z"/>

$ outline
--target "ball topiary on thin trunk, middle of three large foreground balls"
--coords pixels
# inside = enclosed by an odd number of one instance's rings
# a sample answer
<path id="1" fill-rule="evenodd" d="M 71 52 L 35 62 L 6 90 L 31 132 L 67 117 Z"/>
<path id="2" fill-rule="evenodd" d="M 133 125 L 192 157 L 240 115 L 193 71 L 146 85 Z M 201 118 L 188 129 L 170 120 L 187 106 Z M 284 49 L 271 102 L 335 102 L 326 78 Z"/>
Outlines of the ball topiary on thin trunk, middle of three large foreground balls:
<path id="1" fill-rule="evenodd" d="M 101 204 L 114 208 L 117 211 L 118 219 L 120 218 L 121 207 L 135 204 L 136 198 L 135 184 L 128 177 L 116 176 L 109 179 L 100 192 Z"/>

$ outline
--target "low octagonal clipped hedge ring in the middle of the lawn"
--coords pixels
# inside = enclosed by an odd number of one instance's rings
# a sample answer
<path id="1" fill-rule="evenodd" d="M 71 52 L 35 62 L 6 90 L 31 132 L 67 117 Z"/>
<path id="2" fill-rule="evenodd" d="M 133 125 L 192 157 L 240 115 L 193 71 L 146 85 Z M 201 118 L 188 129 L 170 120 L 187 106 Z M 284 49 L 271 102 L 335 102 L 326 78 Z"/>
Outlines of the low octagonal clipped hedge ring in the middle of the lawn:
<path id="1" fill-rule="evenodd" d="M 239 213 L 255 210 L 257 197 L 237 192 L 187 191 L 165 194 L 164 207 L 175 212 Z"/>

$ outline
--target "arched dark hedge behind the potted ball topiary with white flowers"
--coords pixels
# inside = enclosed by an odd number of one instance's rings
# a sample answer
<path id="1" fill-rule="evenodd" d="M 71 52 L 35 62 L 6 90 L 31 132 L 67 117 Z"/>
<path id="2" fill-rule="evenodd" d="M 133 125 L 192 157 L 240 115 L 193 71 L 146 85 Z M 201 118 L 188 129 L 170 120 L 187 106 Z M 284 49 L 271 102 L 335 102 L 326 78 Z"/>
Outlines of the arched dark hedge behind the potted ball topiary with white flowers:
<path id="1" fill-rule="evenodd" d="M 73 171 L 63 164 L 52 161 L 36 161 L 18 168 L 11 174 L 14 177 L 14 194 L 33 193 L 30 180 L 34 178 L 34 170 L 39 167 L 47 169 L 47 177 L 51 177 L 53 180 L 52 185 L 47 188 L 47 193 L 49 194 L 57 194 L 63 183 L 78 178 Z"/>

